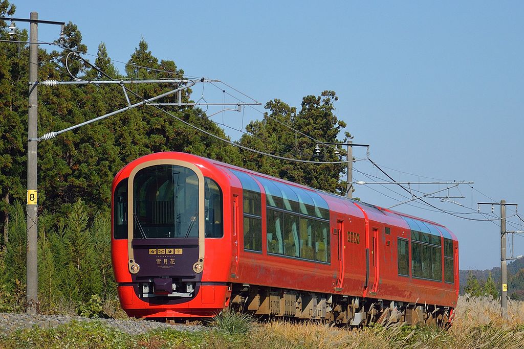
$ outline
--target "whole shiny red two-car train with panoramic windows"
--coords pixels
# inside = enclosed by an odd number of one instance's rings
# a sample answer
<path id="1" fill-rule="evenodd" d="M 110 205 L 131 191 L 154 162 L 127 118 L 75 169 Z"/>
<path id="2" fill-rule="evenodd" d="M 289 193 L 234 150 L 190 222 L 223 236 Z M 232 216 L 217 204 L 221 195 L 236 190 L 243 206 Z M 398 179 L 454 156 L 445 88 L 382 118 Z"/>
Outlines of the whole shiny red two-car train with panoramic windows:
<path id="1" fill-rule="evenodd" d="M 112 219 L 132 317 L 447 323 L 459 294 L 459 243 L 440 224 L 191 154 L 125 166 Z"/>

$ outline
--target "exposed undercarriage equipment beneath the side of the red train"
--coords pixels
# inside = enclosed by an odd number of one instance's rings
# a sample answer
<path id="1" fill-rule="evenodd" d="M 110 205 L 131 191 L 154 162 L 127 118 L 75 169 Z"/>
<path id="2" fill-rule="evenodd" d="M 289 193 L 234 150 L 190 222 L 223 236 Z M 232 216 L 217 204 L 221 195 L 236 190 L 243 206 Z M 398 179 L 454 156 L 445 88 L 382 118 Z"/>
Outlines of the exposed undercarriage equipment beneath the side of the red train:
<path id="1" fill-rule="evenodd" d="M 411 325 L 451 324 L 453 309 L 386 299 L 321 294 L 280 288 L 233 284 L 230 308 L 254 316 L 317 320 L 338 325 L 405 322 Z"/>

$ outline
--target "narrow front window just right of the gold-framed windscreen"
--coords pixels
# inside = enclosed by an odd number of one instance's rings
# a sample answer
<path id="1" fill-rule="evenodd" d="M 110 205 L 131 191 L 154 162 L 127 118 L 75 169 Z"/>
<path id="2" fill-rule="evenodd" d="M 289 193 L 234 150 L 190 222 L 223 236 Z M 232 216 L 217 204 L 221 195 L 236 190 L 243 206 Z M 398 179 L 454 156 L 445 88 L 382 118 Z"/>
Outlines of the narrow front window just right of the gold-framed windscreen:
<path id="1" fill-rule="evenodd" d="M 204 178 L 204 236 L 222 238 L 222 191 L 213 179 Z"/>

